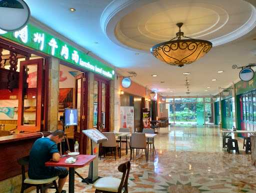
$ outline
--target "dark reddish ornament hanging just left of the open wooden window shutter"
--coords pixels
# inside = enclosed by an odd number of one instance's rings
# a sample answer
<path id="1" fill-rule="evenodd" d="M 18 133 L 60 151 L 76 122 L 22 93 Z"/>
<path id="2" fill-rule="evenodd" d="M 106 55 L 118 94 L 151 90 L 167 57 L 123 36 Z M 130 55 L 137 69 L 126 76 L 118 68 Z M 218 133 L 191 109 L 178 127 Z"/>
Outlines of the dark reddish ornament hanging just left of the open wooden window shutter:
<path id="1" fill-rule="evenodd" d="M 7 87 L 10 92 L 12 92 L 13 87 L 15 86 L 15 75 L 14 72 L 17 70 L 17 53 L 10 51 L 10 67 L 9 67 L 9 73 L 8 73 L 8 83 Z"/>

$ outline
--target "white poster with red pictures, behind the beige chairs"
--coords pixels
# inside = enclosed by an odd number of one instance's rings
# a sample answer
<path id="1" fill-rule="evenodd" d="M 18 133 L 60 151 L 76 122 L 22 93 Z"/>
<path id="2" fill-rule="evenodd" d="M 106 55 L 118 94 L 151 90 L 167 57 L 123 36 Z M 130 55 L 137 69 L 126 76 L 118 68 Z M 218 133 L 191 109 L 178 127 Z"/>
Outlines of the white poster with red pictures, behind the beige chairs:
<path id="1" fill-rule="evenodd" d="M 120 106 L 120 128 L 129 128 L 134 132 L 134 108 L 133 106 Z"/>

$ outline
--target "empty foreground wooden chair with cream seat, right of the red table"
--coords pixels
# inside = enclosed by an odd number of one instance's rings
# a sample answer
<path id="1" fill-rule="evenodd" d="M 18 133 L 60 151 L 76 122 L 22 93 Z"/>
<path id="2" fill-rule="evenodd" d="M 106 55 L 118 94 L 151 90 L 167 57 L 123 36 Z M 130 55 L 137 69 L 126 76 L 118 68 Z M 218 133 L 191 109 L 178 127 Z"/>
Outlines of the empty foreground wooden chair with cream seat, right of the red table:
<path id="1" fill-rule="evenodd" d="M 118 166 L 118 171 L 122 172 L 122 178 L 116 177 L 101 177 L 97 181 L 95 181 L 92 187 L 96 188 L 95 193 L 128 193 L 128 177 L 130 171 L 130 162 L 126 161 Z M 123 191 L 124 189 L 124 191 Z"/>

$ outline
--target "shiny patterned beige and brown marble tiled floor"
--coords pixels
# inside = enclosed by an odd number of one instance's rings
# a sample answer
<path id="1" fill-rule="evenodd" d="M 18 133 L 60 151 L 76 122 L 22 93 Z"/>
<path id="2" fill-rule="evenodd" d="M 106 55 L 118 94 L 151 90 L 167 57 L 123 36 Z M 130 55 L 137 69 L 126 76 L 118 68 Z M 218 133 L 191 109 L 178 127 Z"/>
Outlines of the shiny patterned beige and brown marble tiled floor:
<path id="1" fill-rule="evenodd" d="M 131 161 L 129 192 L 256 192 L 256 168 L 250 154 L 223 152 L 220 130 L 213 125 L 176 125 L 160 128 L 155 139 L 156 155 L 145 161 L 139 154 Z M 107 156 L 99 161 L 99 175 L 120 177 L 117 166 L 129 160 Z M 88 166 L 77 171 L 86 176 Z M 68 189 L 65 184 L 64 189 Z M 54 192 L 49 190 L 48 192 Z M 75 192 L 94 192 L 75 176 Z"/>

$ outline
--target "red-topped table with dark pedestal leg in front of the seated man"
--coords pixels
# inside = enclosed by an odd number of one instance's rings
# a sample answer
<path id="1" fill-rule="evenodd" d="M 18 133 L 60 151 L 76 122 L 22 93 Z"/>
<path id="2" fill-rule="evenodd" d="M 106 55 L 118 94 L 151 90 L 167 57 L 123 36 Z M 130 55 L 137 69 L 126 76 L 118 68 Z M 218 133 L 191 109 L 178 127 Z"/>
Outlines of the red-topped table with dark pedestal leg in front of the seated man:
<path id="1" fill-rule="evenodd" d="M 74 168 L 75 167 L 83 167 L 84 165 L 91 162 L 95 157 L 96 157 L 95 155 L 80 154 L 77 156 L 77 159 L 74 163 L 65 163 L 65 159 L 67 157 L 60 157 L 58 162 L 55 162 L 55 161 L 45 162 L 45 166 L 68 167 L 69 168 L 68 192 L 74 193 Z"/>

